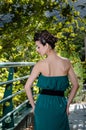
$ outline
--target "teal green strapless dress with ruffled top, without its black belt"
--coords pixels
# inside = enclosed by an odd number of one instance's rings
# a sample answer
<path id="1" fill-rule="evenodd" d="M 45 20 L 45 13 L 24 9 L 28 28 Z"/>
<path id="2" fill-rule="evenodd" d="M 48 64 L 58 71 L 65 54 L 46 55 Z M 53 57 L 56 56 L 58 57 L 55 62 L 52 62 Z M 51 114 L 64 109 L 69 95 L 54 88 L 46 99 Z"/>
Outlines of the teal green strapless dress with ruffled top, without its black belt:
<path id="1" fill-rule="evenodd" d="M 65 91 L 69 86 L 68 76 L 40 74 L 37 86 Z M 34 110 L 34 130 L 70 130 L 66 105 L 65 97 L 39 94 Z"/>

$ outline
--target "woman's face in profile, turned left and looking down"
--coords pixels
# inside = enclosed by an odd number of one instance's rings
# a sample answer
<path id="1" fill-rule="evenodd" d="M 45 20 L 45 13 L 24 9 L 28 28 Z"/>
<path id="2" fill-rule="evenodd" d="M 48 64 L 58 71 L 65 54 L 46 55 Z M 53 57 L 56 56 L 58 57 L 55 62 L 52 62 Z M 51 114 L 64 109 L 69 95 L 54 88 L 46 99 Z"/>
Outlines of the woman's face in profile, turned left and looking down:
<path id="1" fill-rule="evenodd" d="M 42 45 L 42 43 L 40 41 L 36 41 L 36 51 L 40 54 L 40 55 L 45 55 L 46 54 L 46 49 L 47 46 L 46 45 Z"/>

